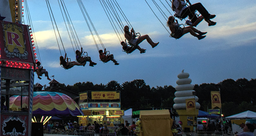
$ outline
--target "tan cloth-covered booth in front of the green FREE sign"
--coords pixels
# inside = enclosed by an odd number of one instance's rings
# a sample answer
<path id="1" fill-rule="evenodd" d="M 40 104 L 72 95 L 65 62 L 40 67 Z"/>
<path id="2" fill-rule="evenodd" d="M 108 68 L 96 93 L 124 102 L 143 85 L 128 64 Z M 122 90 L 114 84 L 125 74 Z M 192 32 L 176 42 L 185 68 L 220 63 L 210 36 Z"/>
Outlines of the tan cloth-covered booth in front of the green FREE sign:
<path id="1" fill-rule="evenodd" d="M 140 136 L 172 136 L 173 119 L 168 109 L 141 110 Z"/>

